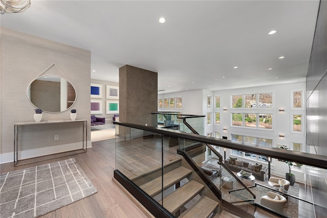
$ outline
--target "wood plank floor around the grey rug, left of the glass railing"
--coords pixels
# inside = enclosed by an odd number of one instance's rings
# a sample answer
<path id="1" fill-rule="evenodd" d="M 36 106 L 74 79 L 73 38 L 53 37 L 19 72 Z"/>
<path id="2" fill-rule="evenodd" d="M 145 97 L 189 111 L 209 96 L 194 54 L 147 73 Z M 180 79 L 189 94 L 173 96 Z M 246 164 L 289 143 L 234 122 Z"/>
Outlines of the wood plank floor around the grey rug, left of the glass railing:
<path id="1" fill-rule="evenodd" d="M 7 173 L 74 157 L 98 193 L 41 217 L 147 217 L 112 180 L 115 169 L 115 139 L 92 142 L 92 148 L 87 149 L 87 153 L 50 159 L 52 157 L 56 155 L 48 156 L 48 160 L 16 167 L 12 162 L 1 164 L 0 172 Z"/>

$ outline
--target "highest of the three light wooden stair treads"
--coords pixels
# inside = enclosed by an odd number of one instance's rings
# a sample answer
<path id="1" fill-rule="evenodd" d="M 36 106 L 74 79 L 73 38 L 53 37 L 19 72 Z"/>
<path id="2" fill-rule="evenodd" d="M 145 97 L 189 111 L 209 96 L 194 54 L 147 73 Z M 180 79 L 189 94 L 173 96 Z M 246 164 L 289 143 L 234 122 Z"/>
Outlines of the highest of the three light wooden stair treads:
<path id="1" fill-rule="evenodd" d="M 180 166 L 173 171 L 164 174 L 164 189 L 174 185 L 191 173 L 192 171 L 190 169 Z M 154 197 L 161 192 L 161 176 L 139 187 L 147 192 L 149 196 Z"/>

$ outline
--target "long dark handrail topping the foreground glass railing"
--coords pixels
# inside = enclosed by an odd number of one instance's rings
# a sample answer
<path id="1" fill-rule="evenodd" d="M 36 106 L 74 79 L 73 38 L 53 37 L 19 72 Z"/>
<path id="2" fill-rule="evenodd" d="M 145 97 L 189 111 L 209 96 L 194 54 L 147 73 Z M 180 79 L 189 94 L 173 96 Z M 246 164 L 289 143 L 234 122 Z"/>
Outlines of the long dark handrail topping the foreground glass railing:
<path id="1" fill-rule="evenodd" d="M 291 151 L 291 150 L 285 150 L 279 148 L 271 148 L 271 147 L 265 147 L 259 145 L 250 145 L 244 142 L 236 142 L 227 139 L 220 139 L 220 138 L 214 138 L 209 136 L 184 133 L 184 132 L 174 131 L 170 129 L 162 129 L 158 127 L 149 127 L 149 126 L 123 123 L 123 122 L 113 122 L 113 124 L 118 124 L 120 126 L 150 131 L 153 133 L 164 134 L 173 137 L 181 137 L 189 140 L 199 141 L 206 144 L 212 144 L 214 146 L 241 150 L 241 151 L 254 153 L 258 155 L 265 155 L 271 158 L 289 160 L 289 161 L 294 161 L 296 163 L 327 169 L 327 157 L 323 155 L 297 152 L 297 151 Z"/>

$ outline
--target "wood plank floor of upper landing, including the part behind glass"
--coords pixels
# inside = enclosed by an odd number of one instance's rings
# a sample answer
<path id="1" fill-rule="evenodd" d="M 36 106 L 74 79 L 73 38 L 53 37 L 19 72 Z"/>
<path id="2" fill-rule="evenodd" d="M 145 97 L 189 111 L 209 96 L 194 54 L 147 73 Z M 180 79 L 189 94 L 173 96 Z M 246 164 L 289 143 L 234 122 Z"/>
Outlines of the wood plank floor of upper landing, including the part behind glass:
<path id="1" fill-rule="evenodd" d="M 137 144 L 141 143 L 142 149 L 137 146 Z M 131 141 L 123 141 L 118 143 L 117 146 L 115 144 L 115 139 L 97 141 L 92 142 L 92 148 L 87 149 L 87 153 L 79 153 L 64 157 L 51 155 L 39 158 L 43 159 L 42 161 L 16 167 L 13 166 L 13 163 L 1 164 L 0 172 L 6 173 L 21 168 L 74 157 L 97 188 L 98 193 L 41 217 L 147 217 L 146 213 L 130 200 L 126 193 L 115 184 L 112 178 L 113 171 L 116 168 L 120 169 L 125 175 L 129 174 L 128 176 L 133 178 L 144 172 L 151 171 L 151 167 L 161 165 L 161 163 L 158 162 L 158 160 L 161 159 L 161 155 L 158 156 L 157 154 L 158 152 L 161 153 L 161 147 L 158 151 L 158 147 L 153 147 L 153 144 L 156 143 L 161 144 L 161 140 L 154 138 L 140 141 L 135 140 L 132 143 Z M 176 154 L 176 149 L 177 147 L 164 147 L 165 162 L 180 158 L 179 155 Z M 116 157 L 118 158 L 117 165 L 115 161 Z M 139 165 L 139 160 L 141 159 L 144 160 L 141 162 L 144 163 L 143 165 Z M 135 163 L 138 165 L 135 165 Z M 151 167 L 149 168 L 150 165 Z M 214 217 L 217 218 L 220 217 L 220 215 L 216 214 Z"/>

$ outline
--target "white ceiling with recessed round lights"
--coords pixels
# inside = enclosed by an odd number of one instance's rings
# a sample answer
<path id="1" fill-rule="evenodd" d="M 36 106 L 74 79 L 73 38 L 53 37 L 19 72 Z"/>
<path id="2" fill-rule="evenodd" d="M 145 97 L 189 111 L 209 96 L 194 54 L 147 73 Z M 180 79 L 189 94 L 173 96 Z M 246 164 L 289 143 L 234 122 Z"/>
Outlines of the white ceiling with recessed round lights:
<path id="1" fill-rule="evenodd" d="M 305 81 L 318 8 L 316 0 L 31 0 L 0 18 L 1 27 L 91 51 L 91 79 L 119 82 L 128 64 L 158 72 L 158 90 L 176 92 Z"/>

